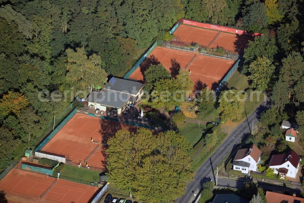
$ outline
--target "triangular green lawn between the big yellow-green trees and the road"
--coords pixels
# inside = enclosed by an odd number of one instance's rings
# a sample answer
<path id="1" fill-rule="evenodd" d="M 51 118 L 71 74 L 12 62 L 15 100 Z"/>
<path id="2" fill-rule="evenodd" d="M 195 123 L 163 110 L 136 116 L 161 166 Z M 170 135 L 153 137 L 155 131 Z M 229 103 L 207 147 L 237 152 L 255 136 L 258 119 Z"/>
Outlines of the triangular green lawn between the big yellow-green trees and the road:
<path id="1" fill-rule="evenodd" d="M 181 123 L 178 125 L 178 131 L 182 136 L 186 138 L 187 141 L 193 146 L 199 139 L 201 139 L 202 134 L 206 132 L 206 126 L 198 126 L 196 123 Z"/>

